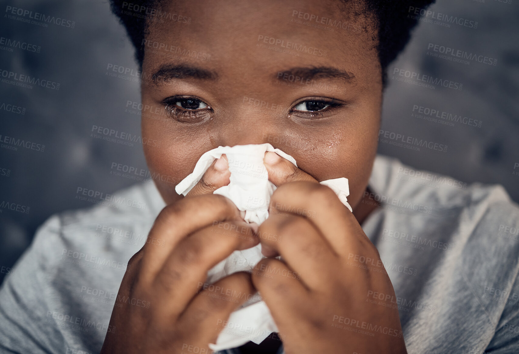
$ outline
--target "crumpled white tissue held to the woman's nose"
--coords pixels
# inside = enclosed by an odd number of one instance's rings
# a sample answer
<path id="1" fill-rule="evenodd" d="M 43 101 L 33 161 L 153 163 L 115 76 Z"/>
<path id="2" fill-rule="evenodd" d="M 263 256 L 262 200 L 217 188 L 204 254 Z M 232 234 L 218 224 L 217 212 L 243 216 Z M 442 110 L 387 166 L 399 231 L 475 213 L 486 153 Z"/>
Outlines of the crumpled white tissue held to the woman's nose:
<path id="1" fill-rule="evenodd" d="M 297 166 L 292 156 L 274 149 L 274 146 L 268 143 L 218 146 L 200 157 L 193 173 L 177 184 L 175 191 L 185 196 L 200 181 L 213 161 L 225 154 L 229 163 L 230 183 L 216 189 L 214 194 L 229 198 L 239 210 L 245 211 L 245 222 L 259 225 L 268 217 L 270 197 L 276 190 L 276 186 L 268 180 L 268 172 L 263 164 L 267 151 L 275 152 Z M 343 177 L 320 183 L 332 188 L 339 200 L 352 211 L 346 198 L 349 195 L 348 179 Z M 209 270 L 206 282 L 212 284 L 235 272 L 252 270 L 262 258 L 264 256 L 261 254 L 261 244 L 237 250 Z M 270 333 L 277 331 L 278 328 L 265 302 L 260 301 L 259 297 L 254 297 L 230 314 L 216 344 L 209 344 L 209 347 L 218 351 L 239 347 L 249 341 L 260 344 Z"/>

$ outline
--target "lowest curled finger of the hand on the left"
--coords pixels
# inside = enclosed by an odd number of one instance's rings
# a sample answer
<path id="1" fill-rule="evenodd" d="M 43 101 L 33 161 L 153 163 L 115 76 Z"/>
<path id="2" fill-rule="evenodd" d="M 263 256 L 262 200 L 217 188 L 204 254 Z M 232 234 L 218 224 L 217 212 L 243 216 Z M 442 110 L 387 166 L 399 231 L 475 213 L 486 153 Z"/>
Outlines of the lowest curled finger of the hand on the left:
<path id="1" fill-rule="evenodd" d="M 231 312 L 256 292 L 246 272 L 231 274 L 201 291 L 187 306 L 179 322 L 204 344 L 216 343 Z"/>

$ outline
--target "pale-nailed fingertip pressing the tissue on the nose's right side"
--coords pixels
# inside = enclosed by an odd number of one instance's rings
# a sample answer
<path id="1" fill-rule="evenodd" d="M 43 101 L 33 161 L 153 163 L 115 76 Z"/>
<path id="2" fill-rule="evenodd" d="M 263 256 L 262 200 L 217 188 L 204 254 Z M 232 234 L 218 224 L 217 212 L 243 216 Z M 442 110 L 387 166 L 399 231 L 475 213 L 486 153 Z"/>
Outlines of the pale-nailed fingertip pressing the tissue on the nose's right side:
<path id="1" fill-rule="evenodd" d="M 295 167 L 289 160 L 279 156 L 275 152 L 266 152 L 263 163 L 268 171 L 268 179 L 277 187 L 283 183 L 294 181 L 319 183 L 311 175 Z"/>

